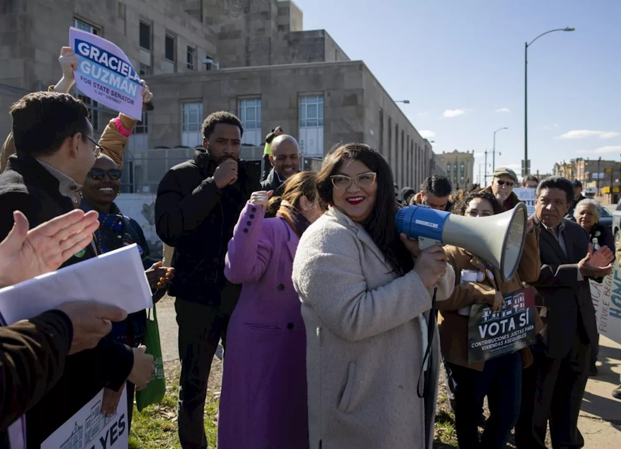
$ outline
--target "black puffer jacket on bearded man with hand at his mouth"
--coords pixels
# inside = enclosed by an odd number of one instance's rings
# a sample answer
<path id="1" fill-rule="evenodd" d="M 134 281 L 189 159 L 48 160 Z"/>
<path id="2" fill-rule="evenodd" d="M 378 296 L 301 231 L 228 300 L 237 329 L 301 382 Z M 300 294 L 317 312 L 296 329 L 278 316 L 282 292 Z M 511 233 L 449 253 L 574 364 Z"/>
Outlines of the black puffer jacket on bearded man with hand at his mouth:
<path id="1" fill-rule="evenodd" d="M 175 247 L 171 296 L 219 306 L 226 284 L 224 256 L 240 212 L 253 191 L 261 190 L 260 173 L 240 161 L 237 182 L 219 189 L 215 164 L 205 150 L 164 175 L 155 201 L 155 227 L 161 240 Z"/>

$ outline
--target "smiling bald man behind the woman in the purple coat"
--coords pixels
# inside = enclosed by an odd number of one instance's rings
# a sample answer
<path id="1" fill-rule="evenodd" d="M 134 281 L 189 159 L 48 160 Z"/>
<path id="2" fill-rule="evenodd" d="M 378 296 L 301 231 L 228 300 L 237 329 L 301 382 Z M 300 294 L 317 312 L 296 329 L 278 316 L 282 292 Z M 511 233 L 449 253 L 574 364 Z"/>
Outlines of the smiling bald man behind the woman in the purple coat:
<path id="1" fill-rule="evenodd" d="M 285 179 L 300 171 L 300 147 L 297 140 L 286 134 L 274 138 L 270 163 L 272 169 L 265 181 L 261 181 L 261 187 L 263 190 L 273 190 L 273 196 L 279 196 L 283 193 Z"/>

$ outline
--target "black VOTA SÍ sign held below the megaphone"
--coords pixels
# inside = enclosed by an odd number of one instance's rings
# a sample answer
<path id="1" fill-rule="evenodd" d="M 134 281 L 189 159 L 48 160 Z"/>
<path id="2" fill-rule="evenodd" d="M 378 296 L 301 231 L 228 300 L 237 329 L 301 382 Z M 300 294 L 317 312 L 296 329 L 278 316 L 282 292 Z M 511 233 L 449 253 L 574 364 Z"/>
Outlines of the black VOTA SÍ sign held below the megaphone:
<path id="1" fill-rule="evenodd" d="M 487 304 L 474 304 L 468 320 L 468 363 L 514 353 L 533 345 L 535 291 L 526 288 L 504 297 L 505 306 L 492 312 Z"/>

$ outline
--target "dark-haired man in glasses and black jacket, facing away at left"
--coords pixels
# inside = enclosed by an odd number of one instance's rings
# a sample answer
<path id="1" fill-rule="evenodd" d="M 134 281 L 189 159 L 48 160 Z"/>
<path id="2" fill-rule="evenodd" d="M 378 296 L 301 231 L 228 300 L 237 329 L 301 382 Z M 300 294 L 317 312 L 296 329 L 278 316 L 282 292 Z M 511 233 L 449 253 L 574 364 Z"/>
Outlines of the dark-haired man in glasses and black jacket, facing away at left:
<path id="1" fill-rule="evenodd" d="M 68 94 L 27 94 L 11 107 L 11 116 L 17 153 L 0 175 L 0 239 L 11 231 L 14 211 L 24 212 L 32 227 L 72 211 L 79 204 L 79 183 L 101 150 L 93 141 L 88 109 Z M 63 266 L 96 255 L 91 244 Z M 62 378 L 27 414 L 29 445 L 40 445 L 102 388 L 118 390 L 128 377 L 146 384 L 134 371 L 153 366 L 152 357 L 145 357 L 137 348 L 105 339 L 68 357 Z"/>

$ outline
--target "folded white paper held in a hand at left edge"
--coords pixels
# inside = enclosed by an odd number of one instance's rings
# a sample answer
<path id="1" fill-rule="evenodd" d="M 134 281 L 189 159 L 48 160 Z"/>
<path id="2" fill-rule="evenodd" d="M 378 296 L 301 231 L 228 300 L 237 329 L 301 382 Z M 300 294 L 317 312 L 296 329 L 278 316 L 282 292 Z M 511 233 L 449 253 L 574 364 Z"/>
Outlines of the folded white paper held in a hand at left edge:
<path id="1" fill-rule="evenodd" d="M 12 324 L 70 301 L 119 306 L 127 313 L 153 307 L 135 244 L 0 290 L 0 322 Z M 2 323 L 0 323 L 2 324 Z"/>

